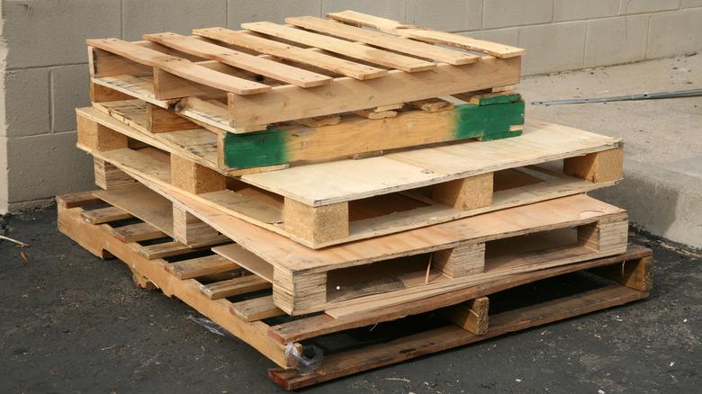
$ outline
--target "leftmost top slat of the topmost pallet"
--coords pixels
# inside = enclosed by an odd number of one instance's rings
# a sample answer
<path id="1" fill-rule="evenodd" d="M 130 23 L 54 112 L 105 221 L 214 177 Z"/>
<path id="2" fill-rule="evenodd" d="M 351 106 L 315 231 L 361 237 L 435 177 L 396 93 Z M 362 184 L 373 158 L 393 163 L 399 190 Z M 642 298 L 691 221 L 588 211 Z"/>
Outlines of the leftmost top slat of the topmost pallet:
<path id="1" fill-rule="evenodd" d="M 259 84 L 237 76 L 229 76 L 207 67 L 194 64 L 188 59 L 166 55 L 131 42 L 118 39 L 87 40 L 95 48 L 112 52 L 149 67 L 158 67 L 175 76 L 195 83 L 236 94 L 259 94 L 269 92 L 271 86 Z"/>

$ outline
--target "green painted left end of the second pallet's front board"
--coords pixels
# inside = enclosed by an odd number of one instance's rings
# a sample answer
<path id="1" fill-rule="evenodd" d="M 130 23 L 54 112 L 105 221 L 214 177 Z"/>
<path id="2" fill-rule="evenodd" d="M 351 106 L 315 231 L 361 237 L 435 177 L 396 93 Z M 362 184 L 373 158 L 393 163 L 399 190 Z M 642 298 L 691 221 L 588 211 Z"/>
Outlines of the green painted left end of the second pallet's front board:
<path id="1" fill-rule="evenodd" d="M 224 135 L 224 164 L 229 168 L 274 166 L 286 162 L 285 133 L 275 126 L 264 131 Z"/>

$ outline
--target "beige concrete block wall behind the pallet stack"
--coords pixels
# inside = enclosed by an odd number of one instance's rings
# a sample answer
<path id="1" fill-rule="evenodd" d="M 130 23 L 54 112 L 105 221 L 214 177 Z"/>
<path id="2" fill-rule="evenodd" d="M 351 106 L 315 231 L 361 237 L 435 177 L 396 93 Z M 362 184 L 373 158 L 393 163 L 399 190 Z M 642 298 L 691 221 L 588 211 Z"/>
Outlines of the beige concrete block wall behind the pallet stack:
<path id="1" fill-rule="evenodd" d="M 86 38 L 354 9 L 526 48 L 524 74 L 702 49 L 702 0 L 3 0 L 0 213 L 94 187 L 74 147 L 88 104 Z"/>

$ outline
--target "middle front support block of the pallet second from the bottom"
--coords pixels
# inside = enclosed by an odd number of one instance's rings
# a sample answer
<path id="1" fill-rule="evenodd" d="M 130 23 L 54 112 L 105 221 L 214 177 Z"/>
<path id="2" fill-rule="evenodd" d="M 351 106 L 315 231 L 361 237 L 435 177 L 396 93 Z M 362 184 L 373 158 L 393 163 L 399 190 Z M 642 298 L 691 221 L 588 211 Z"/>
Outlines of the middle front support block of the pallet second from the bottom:
<path id="1" fill-rule="evenodd" d="M 466 244 L 439 250 L 431 257 L 432 266 L 449 278 L 460 278 L 485 269 L 485 244 Z"/>

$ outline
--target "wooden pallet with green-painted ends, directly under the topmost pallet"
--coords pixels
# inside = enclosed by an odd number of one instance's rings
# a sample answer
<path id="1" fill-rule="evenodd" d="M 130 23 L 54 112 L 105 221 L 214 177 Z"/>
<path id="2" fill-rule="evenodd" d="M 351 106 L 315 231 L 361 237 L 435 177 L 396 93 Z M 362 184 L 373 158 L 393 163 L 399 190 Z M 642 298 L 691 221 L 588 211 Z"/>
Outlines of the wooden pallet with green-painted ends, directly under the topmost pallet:
<path id="1" fill-rule="evenodd" d="M 519 94 L 472 94 L 463 99 L 448 96 L 446 100 L 406 107 L 400 104 L 392 111 L 279 123 L 266 131 L 247 134 L 202 128 L 139 99 L 111 97 L 110 101 L 93 103 L 94 108 L 78 109 L 77 116 L 149 145 L 165 147 L 223 175 L 246 175 L 290 164 L 380 156 L 399 148 L 521 134 L 524 102 Z"/>

